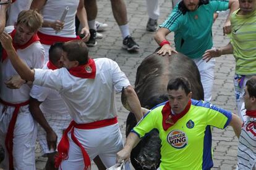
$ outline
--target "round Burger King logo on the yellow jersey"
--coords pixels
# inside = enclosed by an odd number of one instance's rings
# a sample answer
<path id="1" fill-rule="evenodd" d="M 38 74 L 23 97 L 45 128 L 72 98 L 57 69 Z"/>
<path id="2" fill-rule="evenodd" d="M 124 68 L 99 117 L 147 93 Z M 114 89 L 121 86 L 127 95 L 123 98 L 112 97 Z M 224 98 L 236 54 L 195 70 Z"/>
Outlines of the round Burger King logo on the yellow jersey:
<path id="1" fill-rule="evenodd" d="M 173 130 L 169 132 L 167 142 L 174 148 L 184 148 L 187 146 L 187 136 L 180 130 Z"/>

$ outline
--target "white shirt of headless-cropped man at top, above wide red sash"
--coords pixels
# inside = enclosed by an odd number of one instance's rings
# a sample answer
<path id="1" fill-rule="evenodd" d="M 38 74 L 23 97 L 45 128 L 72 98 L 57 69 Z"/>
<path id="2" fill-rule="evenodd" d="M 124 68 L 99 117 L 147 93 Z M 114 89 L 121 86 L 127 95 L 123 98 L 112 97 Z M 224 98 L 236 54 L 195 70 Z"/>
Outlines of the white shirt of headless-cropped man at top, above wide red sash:
<path id="1" fill-rule="evenodd" d="M 61 15 L 66 7 L 69 7 L 65 18 L 64 28 L 58 33 L 55 33 L 53 28 L 42 27 L 40 32 L 44 34 L 49 34 L 53 36 L 62 36 L 67 38 L 77 37 L 75 34 L 75 14 L 77 14 L 77 7 L 79 6 L 79 0 L 47 0 L 43 9 L 41 9 L 41 14 L 43 15 L 43 20 L 55 22 L 61 19 Z"/>

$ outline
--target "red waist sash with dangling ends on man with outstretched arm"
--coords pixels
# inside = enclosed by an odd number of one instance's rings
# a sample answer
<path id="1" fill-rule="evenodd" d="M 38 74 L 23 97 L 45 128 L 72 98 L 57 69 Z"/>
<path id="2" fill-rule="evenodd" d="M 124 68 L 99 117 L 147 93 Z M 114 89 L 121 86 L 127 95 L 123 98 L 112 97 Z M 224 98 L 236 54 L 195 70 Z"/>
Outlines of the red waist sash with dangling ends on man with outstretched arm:
<path id="1" fill-rule="evenodd" d="M 112 119 L 104 119 L 100 121 L 95 121 L 92 123 L 85 123 L 85 124 L 77 124 L 75 121 L 71 121 L 69 124 L 69 127 L 67 127 L 66 131 L 64 132 L 61 141 L 59 142 L 58 145 L 58 156 L 55 158 L 55 168 L 59 168 L 59 165 L 61 164 L 62 160 L 67 160 L 68 158 L 68 152 L 69 152 L 69 139 L 67 137 L 67 133 L 71 131 L 71 139 L 77 144 L 80 149 L 82 150 L 83 154 L 83 162 L 85 164 L 84 169 L 91 169 L 91 160 L 86 152 L 85 148 L 83 148 L 82 144 L 80 144 L 79 140 L 74 136 L 74 127 L 77 129 L 96 129 L 100 127 L 105 127 L 109 126 L 112 124 L 117 123 L 117 118 L 112 118 Z"/>

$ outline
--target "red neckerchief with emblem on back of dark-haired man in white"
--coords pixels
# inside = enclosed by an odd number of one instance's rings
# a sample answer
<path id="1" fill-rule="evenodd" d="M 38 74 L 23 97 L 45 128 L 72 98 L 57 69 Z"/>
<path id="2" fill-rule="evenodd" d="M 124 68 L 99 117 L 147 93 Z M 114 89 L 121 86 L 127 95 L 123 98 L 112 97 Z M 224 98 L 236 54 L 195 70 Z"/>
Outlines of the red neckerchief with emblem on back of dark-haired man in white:
<path id="1" fill-rule="evenodd" d="M 69 73 L 78 78 L 95 78 L 96 65 L 93 59 L 89 59 L 85 65 L 79 65 L 69 69 Z"/>

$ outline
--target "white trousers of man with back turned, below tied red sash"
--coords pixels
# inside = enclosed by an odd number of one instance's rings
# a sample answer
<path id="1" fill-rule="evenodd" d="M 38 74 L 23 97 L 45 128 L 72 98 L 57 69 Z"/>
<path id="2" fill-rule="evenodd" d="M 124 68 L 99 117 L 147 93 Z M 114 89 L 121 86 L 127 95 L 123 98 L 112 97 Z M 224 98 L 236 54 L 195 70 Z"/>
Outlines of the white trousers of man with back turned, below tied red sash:
<path id="1" fill-rule="evenodd" d="M 109 168 L 116 164 L 116 153 L 123 148 L 122 135 L 119 124 L 101 127 L 97 129 L 76 129 L 74 135 L 80 144 L 85 148 L 92 161 L 97 155 L 101 161 Z M 82 151 L 69 136 L 69 157 L 61 162 L 59 169 L 80 170 L 85 167 L 83 163 Z M 126 163 L 126 169 L 130 169 L 129 163 Z"/>

